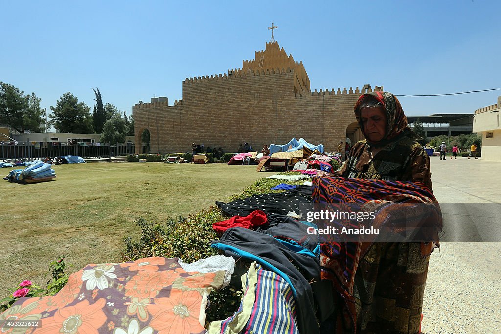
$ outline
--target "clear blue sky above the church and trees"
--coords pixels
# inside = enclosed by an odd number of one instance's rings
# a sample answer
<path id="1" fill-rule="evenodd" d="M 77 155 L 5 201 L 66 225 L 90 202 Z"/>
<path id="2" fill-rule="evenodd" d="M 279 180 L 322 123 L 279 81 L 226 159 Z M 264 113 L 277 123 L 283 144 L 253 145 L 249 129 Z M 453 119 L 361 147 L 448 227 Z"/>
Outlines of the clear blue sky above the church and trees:
<path id="1" fill-rule="evenodd" d="M 134 103 L 182 98 L 187 77 L 226 73 L 275 39 L 317 89 L 383 85 L 394 94 L 501 88 L 501 2 L 27 2 L 0 0 L 0 81 L 50 111 L 93 87 L 128 115 Z M 501 91 L 401 97 L 408 116 L 473 113 Z"/>

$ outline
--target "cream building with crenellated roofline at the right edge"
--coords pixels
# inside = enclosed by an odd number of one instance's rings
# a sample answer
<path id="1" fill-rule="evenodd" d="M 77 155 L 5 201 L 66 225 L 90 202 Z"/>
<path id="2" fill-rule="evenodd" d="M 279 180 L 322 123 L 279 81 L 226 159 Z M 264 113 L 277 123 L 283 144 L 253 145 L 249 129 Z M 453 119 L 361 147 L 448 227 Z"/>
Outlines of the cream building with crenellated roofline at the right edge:
<path id="1" fill-rule="evenodd" d="M 497 104 L 475 110 L 473 132 L 482 134 L 482 160 L 501 161 L 501 96 Z"/>

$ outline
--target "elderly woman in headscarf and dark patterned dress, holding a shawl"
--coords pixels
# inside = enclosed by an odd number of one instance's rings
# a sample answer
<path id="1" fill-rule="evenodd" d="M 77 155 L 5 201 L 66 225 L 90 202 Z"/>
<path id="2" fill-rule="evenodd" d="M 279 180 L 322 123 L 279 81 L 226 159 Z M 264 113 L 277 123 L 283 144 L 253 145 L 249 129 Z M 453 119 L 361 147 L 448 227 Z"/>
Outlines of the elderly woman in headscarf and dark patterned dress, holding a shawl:
<path id="1" fill-rule="evenodd" d="M 364 94 L 355 104 L 355 116 L 366 140 L 353 145 L 334 175 L 420 182 L 433 197 L 428 156 L 417 142 L 419 137 L 407 127 L 397 98 L 386 92 Z M 337 332 L 418 333 L 428 255 L 438 246 L 438 239 L 432 241 L 368 245 L 354 264 L 351 305 L 346 296 L 338 297 Z M 323 278 L 332 280 L 324 272 Z"/>

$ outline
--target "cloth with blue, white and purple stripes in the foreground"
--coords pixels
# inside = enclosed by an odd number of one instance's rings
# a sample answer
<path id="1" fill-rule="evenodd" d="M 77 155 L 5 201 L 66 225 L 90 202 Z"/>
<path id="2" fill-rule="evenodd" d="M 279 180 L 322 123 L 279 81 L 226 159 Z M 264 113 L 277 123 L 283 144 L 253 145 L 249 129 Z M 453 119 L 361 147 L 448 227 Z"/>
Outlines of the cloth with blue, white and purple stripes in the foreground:
<path id="1" fill-rule="evenodd" d="M 243 333 L 299 334 L 291 286 L 275 272 L 258 270 L 256 301 Z"/>

